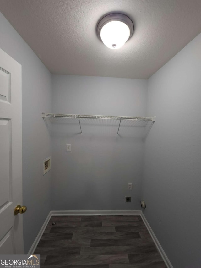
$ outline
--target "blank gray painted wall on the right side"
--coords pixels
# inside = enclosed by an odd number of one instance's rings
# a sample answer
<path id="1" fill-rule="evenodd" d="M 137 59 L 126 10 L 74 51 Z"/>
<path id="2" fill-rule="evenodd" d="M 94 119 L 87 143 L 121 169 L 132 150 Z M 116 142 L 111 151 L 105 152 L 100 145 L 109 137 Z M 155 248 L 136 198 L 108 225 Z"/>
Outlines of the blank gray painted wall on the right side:
<path id="1" fill-rule="evenodd" d="M 148 80 L 144 215 L 174 268 L 201 264 L 201 34 Z"/>

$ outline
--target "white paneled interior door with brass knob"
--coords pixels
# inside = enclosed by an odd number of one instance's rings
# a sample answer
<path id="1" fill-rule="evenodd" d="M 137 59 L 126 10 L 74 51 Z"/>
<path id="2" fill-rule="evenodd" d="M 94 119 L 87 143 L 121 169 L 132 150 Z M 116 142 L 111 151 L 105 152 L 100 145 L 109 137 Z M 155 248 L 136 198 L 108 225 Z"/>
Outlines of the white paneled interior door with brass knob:
<path id="1" fill-rule="evenodd" d="M 0 254 L 24 254 L 21 65 L 0 49 Z"/>

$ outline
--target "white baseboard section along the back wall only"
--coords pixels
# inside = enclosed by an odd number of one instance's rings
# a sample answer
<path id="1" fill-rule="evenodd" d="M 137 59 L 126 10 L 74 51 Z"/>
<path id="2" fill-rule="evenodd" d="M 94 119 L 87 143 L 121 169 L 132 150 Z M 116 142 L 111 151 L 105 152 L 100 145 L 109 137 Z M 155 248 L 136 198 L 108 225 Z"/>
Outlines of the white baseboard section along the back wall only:
<path id="1" fill-rule="evenodd" d="M 140 215 L 141 210 L 52 210 L 51 216 L 62 216 L 62 215 Z"/>

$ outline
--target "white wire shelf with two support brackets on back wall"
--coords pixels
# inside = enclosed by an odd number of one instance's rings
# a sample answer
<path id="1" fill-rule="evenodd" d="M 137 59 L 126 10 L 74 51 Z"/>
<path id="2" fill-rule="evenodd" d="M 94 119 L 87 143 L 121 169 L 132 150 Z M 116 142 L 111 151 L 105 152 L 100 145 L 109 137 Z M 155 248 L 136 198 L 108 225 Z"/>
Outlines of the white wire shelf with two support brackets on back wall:
<path id="1" fill-rule="evenodd" d="M 79 120 L 79 127 L 82 134 L 81 123 L 80 119 L 110 119 L 110 120 L 119 120 L 119 126 L 117 134 L 119 134 L 119 128 L 122 120 L 129 120 L 129 121 L 139 121 L 139 122 L 146 122 L 152 121 L 154 123 L 154 117 L 140 117 L 140 116 L 111 116 L 111 115 L 81 115 L 81 114 L 58 114 L 58 113 L 42 113 L 43 118 L 77 118 Z"/>

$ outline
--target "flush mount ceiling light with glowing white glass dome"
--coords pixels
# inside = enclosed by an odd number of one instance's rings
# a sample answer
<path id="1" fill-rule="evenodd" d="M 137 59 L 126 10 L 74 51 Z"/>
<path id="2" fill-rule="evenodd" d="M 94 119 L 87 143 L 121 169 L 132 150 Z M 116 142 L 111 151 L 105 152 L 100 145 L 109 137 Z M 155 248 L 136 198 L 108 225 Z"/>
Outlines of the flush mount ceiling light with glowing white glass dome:
<path id="1" fill-rule="evenodd" d="M 123 46 L 133 34 L 132 20 L 120 13 L 113 13 L 102 18 L 97 25 L 97 35 L 111 49 Z"/>

